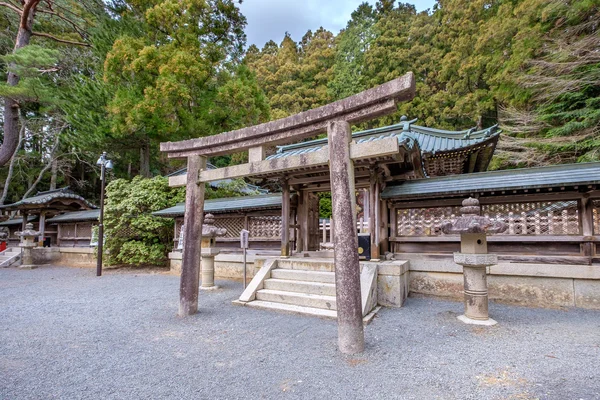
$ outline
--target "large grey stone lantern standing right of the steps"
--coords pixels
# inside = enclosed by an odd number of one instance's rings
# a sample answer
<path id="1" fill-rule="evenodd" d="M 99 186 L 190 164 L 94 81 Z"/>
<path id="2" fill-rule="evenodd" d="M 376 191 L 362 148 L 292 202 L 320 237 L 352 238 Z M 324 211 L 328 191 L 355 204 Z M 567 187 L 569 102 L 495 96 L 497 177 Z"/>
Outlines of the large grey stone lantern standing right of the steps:
<path id="1" fill-rule="evenodd" d="M 463 266 L 465 314 L 458 319 L 467 324 L 495 325 L 488 314 L 486 269 L 498 263 L 498 256 L 488 254 L 486 235 L 504 232 L 507 225 L 481 216 L 477 199 L 468 198 L 462 205 L 462 215 L 442 226 L 444 233 L 460 233 L 460 253 L 454 253 L 454 262 Z"/>

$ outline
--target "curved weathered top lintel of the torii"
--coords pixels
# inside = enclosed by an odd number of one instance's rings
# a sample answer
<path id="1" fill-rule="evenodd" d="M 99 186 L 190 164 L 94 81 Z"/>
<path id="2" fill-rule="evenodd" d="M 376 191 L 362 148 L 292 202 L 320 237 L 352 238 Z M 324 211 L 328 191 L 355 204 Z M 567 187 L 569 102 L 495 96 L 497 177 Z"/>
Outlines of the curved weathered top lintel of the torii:
<path id="1" fill-rule="evenodd" d="M 325 132 L 329 121 L 343 120 L 356 124 L 393 113 L 397 102 L 411 100 L 414 95 L 415 78 L 412 72 L 408 72 L 319 108 L 219 135 L 161 143 L 160 150 L 168 153 L 169 158 L 184 158 L 231 154 L 267 144 L 290 143 Z"/>

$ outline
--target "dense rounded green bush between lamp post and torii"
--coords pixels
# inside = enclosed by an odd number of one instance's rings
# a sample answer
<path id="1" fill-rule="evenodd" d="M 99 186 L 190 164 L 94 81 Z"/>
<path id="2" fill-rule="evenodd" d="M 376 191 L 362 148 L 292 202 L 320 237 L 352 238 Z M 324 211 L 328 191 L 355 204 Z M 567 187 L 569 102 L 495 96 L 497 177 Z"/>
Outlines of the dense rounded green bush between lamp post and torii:
<path id="1" fill-rule="evenodd" d="M 165 177 L 117 179 L 106 187 L 105 235 L 112 265 L 164 265 L 173 239 L 173 220 L 152 212 L 184 200 Z"/>

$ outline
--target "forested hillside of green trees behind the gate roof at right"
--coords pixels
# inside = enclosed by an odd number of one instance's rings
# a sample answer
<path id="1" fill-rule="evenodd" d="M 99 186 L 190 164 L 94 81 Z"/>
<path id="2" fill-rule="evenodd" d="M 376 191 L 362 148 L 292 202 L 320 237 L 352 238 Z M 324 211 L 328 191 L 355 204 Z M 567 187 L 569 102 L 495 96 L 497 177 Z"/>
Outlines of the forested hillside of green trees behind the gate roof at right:
<path id="1" fill-rule="evenodd" d="M 420 13 L 391 0 L 363 3 L 335 38 L 333 65 L 321 67 L 328 76 L 323 97 L 303 89 L 305 38 L 251 47 L 246 59 L 272 117 L 305 111 L 319 104 L 309 101 L 315 97 L 337 100 L 412 71 L 415 98 L 365 127 L 396 123 L 401 115 L 446 129 L 500 122 L 519 141 L 501 141 L 494 168 L 589 161 L 600 159 L 599 39 L 592 22 L 598 18 L 597 1 L 439 0 Z M 516 126 L 504 110 L 531 113 L 521 121 L 528 126 Z"/>

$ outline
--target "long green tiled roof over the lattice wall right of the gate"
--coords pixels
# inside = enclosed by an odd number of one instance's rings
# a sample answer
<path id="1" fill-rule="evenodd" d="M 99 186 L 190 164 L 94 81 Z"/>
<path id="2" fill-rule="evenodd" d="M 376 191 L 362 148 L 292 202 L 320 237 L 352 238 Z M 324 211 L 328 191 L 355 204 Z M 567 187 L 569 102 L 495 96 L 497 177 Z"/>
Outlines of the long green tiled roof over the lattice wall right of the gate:
<path id="1" fill-rule="evenodd" d="M 600 163 L 564 164 L 417 179 L 397 186 L 388 186 L 381 193 L 381 197 L 408 200 L 451 195 L 467 196 L 477 192 L 597 184 L 600 184 Z"/>

